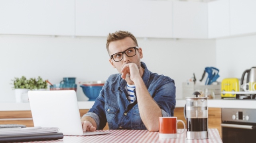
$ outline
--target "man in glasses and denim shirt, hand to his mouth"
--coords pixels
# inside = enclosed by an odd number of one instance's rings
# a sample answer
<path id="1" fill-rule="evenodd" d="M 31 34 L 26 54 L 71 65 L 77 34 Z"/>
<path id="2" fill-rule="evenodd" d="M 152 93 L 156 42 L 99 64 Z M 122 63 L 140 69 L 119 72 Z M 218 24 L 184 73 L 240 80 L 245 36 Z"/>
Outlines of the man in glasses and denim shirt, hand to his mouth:
<path id="1" fill-rule="evenodd" d="M 173 116 L 174 80 L 147 69 L 140 61 L 142 48 L 130 32 L 109 34 L 106 48 L 110 64 L 120 74 L 112 74 L 106 80 L 95 104 L 81 118 L 84 132 L 101 130 L 106 122 L 109 129 L 157 132 L 159 117 Z"/>

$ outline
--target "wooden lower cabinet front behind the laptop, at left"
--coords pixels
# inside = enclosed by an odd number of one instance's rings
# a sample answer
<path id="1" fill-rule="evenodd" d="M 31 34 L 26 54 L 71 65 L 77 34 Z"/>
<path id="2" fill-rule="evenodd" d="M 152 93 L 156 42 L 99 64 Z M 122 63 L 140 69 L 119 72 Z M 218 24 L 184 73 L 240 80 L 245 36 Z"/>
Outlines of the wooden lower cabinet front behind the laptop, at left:
<path id="1" fill-rule="evenodd" d="M 79 110 L 80 116 L 87 113 L 89 109 Z M 22 124 L 27 127 L 33 127 L 33 119 L 31 111 L 0 111 L 0 124 Z M 103 130 L 108 130 L 108 124 L 106 124 Z"/>

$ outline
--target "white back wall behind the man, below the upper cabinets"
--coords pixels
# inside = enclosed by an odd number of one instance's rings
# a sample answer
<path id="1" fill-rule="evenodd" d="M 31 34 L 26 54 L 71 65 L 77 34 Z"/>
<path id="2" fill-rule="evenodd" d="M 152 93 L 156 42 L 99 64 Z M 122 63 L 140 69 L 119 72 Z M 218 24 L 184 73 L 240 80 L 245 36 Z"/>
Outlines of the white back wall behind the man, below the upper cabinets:
<path id="1" fill-rule="evenodd" d="M 144 54 L 141 61 L 150 71 L 175 80 L 177 99 L 182 98 L 182 82 L 191 78 L 193 73 L 199 80 L 204 68 L 216 66 L 216 61 L 223 68 L 220 69 L 223 76 L 225 67 L 219 61 L 216 49 L 221 52 L 224 41 L 218 40 L 216 48 L 215 40 L 138 38 Z M 108 62 L 105 44 L 106 37 L 0 35 L 0 102 L 15 102 L 10 83 L 14 77 L 23 75 L 27 78 L 41 76 L 52 84 L 59 83 L 63 77 L 76 77 L 77 84 L 106 80 L 117 71 Z M 242 50 L 240 48 L 237 52 Z M 79 84 L 77 98 L 87 100 Z"/>

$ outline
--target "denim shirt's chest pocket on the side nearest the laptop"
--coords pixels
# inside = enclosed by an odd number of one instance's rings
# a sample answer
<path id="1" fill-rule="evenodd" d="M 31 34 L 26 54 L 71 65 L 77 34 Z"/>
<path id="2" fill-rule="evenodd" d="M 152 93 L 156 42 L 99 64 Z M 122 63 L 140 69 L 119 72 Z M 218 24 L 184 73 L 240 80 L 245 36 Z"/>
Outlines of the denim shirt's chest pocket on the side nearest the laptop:
<path id="1" fill-rule="evenodd" d="M 105 105 L 106 119 L 108 122 L 108 128 L 111 130 L 114 123 L 114 118 L 118 113 L 118 109 L 110 105 Z"/>

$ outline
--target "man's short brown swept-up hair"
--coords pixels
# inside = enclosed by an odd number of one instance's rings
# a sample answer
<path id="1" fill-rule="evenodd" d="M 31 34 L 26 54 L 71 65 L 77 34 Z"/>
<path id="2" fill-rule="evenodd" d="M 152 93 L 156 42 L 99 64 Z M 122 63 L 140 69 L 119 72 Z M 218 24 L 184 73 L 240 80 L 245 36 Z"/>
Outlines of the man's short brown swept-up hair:
<path id="1" fill-rule="evenodd" d="M 137 42 L 136 38 L 133 36 L 132 33 L 128 32 L 128 31 L 116 31 L 114 33 L 109 33 L 108 34 L 106 49 L 108 50 L 108 46 L 109 46 L 110 42 L 114 42 L 114 41 L 117 41 L 117 40 L 122 40 L 126 37 L 132 38 L 132 40 L 134 41 L 136 46 L 138 46 L 138 42 Z"/>

